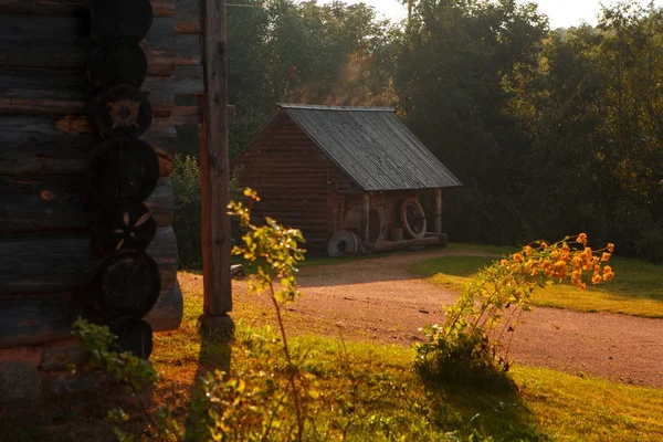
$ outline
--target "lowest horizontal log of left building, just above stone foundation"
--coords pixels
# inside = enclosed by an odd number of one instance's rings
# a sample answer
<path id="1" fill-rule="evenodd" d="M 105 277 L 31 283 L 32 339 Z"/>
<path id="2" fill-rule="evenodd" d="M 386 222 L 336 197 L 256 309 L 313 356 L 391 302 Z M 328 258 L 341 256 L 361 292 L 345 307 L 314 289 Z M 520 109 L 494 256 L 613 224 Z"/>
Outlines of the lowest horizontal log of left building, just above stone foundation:
<path id="1" fill-rule="evenodd" d="M 72 324 L 84 314 L 83 296 L 71 292 L 0 296 L 0 348 L 66 339 Z M 155 332 L 176 330 L 182 320 L 182 293 L 179 284 L 175 284 L 161 292 L 145 320 Z"/>

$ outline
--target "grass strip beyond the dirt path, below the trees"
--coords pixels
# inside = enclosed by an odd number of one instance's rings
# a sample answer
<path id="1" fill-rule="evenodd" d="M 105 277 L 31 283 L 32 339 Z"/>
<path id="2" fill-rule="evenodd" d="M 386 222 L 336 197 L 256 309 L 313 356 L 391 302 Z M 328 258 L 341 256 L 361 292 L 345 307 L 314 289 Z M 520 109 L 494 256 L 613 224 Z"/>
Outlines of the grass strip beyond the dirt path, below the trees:
<path id="1" fill-rule="evenodd" d="M 495 256 L 441 256 L 421 261 L 411 271 L 431 282 L 460 290 L 478 269 Z M 663 317 L 663 266 L 635 259 L 613 257 L 615 277 L 601 285 L 588 284 L 579 291 L 568 283 L 537 290 L 538 306 L 571 308 L 579 312 L 607 312 L 643 317 Z"/>

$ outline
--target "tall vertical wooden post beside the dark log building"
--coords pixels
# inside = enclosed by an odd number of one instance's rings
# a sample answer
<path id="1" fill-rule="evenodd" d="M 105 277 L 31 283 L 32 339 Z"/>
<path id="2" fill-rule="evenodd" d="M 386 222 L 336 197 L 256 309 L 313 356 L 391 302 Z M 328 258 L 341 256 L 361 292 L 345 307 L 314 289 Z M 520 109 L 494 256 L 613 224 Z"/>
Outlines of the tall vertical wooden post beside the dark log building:
<path id="1" fill-rule="evenodd" d="M 201 326 L 207 333 L 231 334 L 233 323 L 228 212 L 230 160 L 228 154 L 228 78 L 225 0 L 201 0 L 203 124 L 200 144 L 202 198 L 202 271 L 204 306 Z"/>

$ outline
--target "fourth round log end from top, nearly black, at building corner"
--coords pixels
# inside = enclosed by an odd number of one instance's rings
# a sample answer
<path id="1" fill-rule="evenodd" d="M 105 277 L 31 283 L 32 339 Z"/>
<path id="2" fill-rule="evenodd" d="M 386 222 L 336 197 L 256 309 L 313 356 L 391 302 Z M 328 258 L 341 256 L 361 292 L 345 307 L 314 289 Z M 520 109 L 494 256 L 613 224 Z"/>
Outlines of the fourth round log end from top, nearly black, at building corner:
<path id="1" fill-rule="evenodd" d="M 90 189 L 103 202 L 143 201 L 159 181 L 159 158 L 145 141 L 118 138 L 90 162 Z"/>

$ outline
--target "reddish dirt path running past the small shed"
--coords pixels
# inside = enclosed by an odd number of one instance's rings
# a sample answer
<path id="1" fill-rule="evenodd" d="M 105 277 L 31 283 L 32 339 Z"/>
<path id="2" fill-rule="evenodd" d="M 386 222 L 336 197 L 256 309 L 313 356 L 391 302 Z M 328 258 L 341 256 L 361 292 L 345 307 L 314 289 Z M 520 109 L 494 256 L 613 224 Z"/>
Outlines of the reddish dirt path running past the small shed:
<path id="1" fill-rule="evenodd" d="M 408 269 L 451 254 L 427 250 L 306 267 L 298 277 L 304 297 L 291 316 L 311 333 L 340 329 L 346 336 L 411 345 L 420 338 L 419 327 L 442 320 L 442 306 L 456 294 Z M 236 284 L 242 298 L 245 283 Z M 523 319 L 511 348 L 517 362 L 663 388 L 663 319 L 544 307 Z"/>

